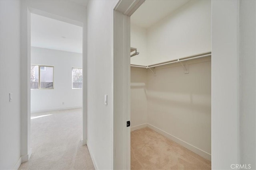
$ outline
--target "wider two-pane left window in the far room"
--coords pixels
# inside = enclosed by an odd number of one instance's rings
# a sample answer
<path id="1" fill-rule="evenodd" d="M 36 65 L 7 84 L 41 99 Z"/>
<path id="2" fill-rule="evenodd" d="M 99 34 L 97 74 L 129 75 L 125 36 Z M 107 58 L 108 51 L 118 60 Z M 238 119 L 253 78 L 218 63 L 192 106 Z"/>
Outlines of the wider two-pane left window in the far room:
<path id="1" fill-rule="evenodd" d="M 30 89 L 53 89 L 53 66 L 32 64 L 30 68 Z"/>

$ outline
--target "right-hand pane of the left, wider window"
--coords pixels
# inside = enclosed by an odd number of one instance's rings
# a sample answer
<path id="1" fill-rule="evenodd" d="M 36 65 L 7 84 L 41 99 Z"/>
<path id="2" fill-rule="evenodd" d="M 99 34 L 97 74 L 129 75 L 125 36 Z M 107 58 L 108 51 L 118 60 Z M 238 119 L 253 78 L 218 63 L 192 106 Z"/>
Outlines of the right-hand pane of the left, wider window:
<path id="1" fill-rule="evenodd" d="M 40 66 L 40 88 L 53 88 L 53 67 Z"/>

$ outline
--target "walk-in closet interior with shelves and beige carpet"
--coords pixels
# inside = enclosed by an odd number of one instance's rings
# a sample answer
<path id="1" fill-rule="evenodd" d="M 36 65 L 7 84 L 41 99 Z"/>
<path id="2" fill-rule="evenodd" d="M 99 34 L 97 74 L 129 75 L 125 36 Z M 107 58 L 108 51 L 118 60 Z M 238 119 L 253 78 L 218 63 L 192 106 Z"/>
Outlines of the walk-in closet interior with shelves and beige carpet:
<path id="1" fill-rule="evenodd" d="M 211 1 L 131 16 L 131 169 L 211 169 Z"/>

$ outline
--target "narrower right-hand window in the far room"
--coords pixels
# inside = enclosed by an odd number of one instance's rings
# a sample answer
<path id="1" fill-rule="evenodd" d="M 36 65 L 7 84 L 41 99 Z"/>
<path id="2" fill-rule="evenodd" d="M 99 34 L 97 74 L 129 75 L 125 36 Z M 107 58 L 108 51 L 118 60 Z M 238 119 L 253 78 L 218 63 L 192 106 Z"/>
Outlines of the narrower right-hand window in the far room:
<path id="1" fill-rule="evenodd" d="M 82 68 L 72 68 L 72 88 L 82 88 L 83 87 L 83 69 Z"/>

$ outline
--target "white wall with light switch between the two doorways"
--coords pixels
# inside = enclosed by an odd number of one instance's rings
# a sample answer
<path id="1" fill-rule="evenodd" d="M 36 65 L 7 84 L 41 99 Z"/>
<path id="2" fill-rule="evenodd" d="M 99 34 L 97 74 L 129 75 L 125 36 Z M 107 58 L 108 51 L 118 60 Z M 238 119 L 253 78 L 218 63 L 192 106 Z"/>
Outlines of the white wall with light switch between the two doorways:
<path id="1" fill-rule="evenodd" d="M 97 169 L 113 169 L 113 9 L 117 1 L 90 1 L 88 21 L 88 149 Z M 104 95 L 108 95 L 108 105 Z"/>

